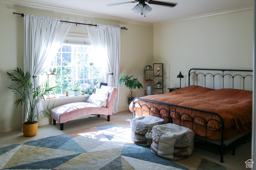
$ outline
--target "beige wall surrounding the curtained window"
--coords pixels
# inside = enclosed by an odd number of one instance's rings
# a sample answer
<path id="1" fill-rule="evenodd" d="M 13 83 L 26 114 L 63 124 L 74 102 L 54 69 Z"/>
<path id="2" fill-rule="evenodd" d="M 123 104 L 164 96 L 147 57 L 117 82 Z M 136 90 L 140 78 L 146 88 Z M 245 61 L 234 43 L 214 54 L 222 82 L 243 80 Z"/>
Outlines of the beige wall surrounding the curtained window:
<path id="1" fill-rule="evenodd" d="M 14 101 L 17 99 L 17 95 L 7 89 L 7 86 L 13 85 L 13 83 L 7 79 L 6 72 L 17 67 L 23 68 L 23 18 L 20 15 L 14 15 L 13 12 L 59 18 L 61 20 L 72 22 L 126 27 L 128 30 L 121 30 L 120 76 L 124 74 L 134 75 L 140 82 L 143 82 L 144 66 L 153 63 L 153 26 L 150 24 L 140 24 L 137 21 L 136 23 L 133 21 L 127 22 L 127 20 L 125 20 L 125 22 L 120 22 L 93 17 L 83 17 L 0 3 L 0 15 L 3 16 L 0 18 L 0 133 L 20 129 L 22 124 L 21 107 L 18 106 L 15 108 L 13 105 Z M 71 26 L 69 32 L 87 33 L 85 25 L 76 26 L 75 24 Z M 134 90 L 134 95 L 137 97 L 141 97 L 143 94 L 143 89 Z M 130 97 L 130 90 L 121 86 L 119 92 L 119 108 L 121 110 L 128 109 L 127 97 Z M 59 104 L 60 103 L 61 102 L 59 102 Z M 49 116 L 45 116 L 41 120 L 47 121 L 48 119 Z"/>

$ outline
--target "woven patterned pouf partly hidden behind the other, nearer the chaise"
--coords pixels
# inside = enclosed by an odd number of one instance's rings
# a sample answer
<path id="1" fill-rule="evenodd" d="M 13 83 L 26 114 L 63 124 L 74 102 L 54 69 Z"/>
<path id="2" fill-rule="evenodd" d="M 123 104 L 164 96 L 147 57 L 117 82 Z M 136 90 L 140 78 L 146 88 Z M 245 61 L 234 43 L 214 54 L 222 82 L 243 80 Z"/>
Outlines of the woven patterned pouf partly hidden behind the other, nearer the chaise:
<path id="1" fill-rule="evenodd" d="M 152 137 L 146 138 L 149 136 L 152 136 L 150 134 L 153 126 L 155 125 L 162 125 L 165 124 L 166 121 L 155 116 L 146 115 L 137 117 L 131 120 L 131 138 L 132 141 L 141 146 L 150 146 L 152 143 Z"/>

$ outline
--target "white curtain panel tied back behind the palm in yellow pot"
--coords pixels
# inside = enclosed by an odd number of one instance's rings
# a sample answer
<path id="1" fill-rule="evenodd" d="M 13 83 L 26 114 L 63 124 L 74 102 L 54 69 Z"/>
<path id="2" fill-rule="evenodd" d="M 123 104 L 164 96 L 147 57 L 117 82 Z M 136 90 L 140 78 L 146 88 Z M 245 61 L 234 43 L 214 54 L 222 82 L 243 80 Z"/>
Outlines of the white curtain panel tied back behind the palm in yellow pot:
<path id="1" fill-rule="evenodd" d="M 59 19 L 38 17 L 35 15 L 24 16 L 25 51 L 24 72 L 31 74 L 34 87 L 39 86 L 38 76 L 44 71 L 59 50 L 64 41 L 71 23 L 60 22 Z M 23 121 L 26 121 L 27 111 L 23 108 Z M 42 103 L 37 104 L 34 115 L 38 112 L 38 119 L 44 116 Z"/>

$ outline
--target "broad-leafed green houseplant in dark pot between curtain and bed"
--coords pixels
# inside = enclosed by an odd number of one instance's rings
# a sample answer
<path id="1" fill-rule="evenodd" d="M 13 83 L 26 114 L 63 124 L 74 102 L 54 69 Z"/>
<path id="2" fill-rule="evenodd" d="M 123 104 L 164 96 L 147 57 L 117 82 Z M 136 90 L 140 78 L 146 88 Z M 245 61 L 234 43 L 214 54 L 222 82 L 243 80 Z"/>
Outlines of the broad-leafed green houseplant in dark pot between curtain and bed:
<path id="1" fill-rule="evenodd" d="M 125 76 L 123 75 L 121 79 L 119 80 L 120 86 L 121 84 L 125 84 L 126 87 L 128 87 L 131 91 L 131 97 L 128 98 L 128 104 L 133 101 L 132 92 L 137 87 L 138 89 L 143 88 L 142 84 L 138 81 L 138 79 L 133 78 L 133 76 Z"/>

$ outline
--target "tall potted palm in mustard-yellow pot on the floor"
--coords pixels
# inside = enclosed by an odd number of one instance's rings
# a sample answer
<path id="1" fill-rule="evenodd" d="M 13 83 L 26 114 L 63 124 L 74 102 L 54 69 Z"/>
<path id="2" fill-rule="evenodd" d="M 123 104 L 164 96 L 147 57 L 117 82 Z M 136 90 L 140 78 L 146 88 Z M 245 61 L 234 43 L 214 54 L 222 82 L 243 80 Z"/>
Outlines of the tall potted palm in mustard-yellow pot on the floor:
<path id="1" fill-rule="evenodd" d="M 57 87 L 60 86 L 48 87 L 48 82 L 45 82 L 42 84 L 42 86 L 33 87 L 30 73 L 27 72 L 24 74 L 24 72 L 19 68 L 13 72 L 7 72 L 7 75 L 10 80 L 17 82 L 19 85 L 18 88 L 14 86 L 8 86 L 8 88 L 11 89 L 13 93 L 20 96 L 20 98 L 14 102 L 14 105 L 17 107 L 19 103 L 21 103 L 21 105 L 24 104 L 28 111 L 27 121 L 23 122 L 22 124 L 23 134 L 25 136 L 34 136 L 37 134 L 38 128 L 38 122 L 35 121 L 35 118 L 40 113 L 39 112 L 34 115 L 36 104 L 40 102 L 41 99 L 45 99 L 44 96 L 50 95 L 56 90 Z M 50 114 L 45 110 L 41 112 Z"/>

